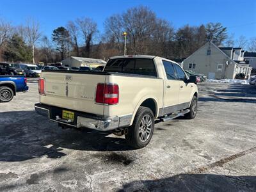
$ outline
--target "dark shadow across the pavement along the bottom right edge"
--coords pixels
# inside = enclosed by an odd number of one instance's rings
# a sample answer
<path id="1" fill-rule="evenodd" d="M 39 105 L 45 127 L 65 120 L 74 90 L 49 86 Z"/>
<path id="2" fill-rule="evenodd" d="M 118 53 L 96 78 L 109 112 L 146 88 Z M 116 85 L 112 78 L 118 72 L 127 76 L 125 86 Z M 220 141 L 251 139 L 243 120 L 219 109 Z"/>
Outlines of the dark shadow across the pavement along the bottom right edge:
<path id="1" fill-rule="evenodd" d="M 256 191 L 255 176 L 180 174 L 164 179 L 137 180 L 121 191 Z"/>

